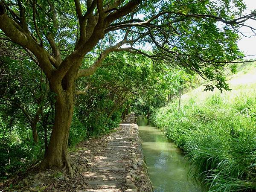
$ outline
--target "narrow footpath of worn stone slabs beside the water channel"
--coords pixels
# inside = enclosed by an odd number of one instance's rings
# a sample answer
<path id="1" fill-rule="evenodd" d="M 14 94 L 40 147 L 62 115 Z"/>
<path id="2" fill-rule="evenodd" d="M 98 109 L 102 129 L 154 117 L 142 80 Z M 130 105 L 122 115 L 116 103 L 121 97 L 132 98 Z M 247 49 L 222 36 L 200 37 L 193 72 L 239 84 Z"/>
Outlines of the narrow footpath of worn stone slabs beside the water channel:
<path id="1" fill-rule="evenodd" d="M 136 174 L 140 172 L 138 166 L 142 166 L 143 162 L 136 160 L 139 138 L 135 127 L 137 125 L 133 123 L 136 123 L 136 117 L 130 114 L 116 132 L 100 140 L 101 145 L 93 146 L 90 150 L 90 171 L 82 173 L 85 191 L 135 192 L 141 186 L 141 183 L 136 183 L 140 180 L 140 175 Z M 134 181 L 132 176 L 137 180 Z M 79 192 L 84 192 L 84 189 Z"/>

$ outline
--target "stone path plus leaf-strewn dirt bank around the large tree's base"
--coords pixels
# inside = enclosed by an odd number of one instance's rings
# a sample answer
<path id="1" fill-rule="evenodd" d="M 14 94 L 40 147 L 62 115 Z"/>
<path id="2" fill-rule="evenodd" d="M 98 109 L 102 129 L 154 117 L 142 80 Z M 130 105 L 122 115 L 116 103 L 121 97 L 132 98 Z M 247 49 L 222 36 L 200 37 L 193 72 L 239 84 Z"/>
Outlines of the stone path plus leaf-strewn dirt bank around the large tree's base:
<path id="1" fill-rule="evenodd" d="M 152 192 L 136 116 L 131 113 L 109 135 L 88 140 L 71 152 L 81 170 L 74 178 L 53 170 L 20 180 L 11 191 Z M 17 182 L 17 181 L 16 181 Z M 6 190 L 8 191 L 8 189 Z"/>

